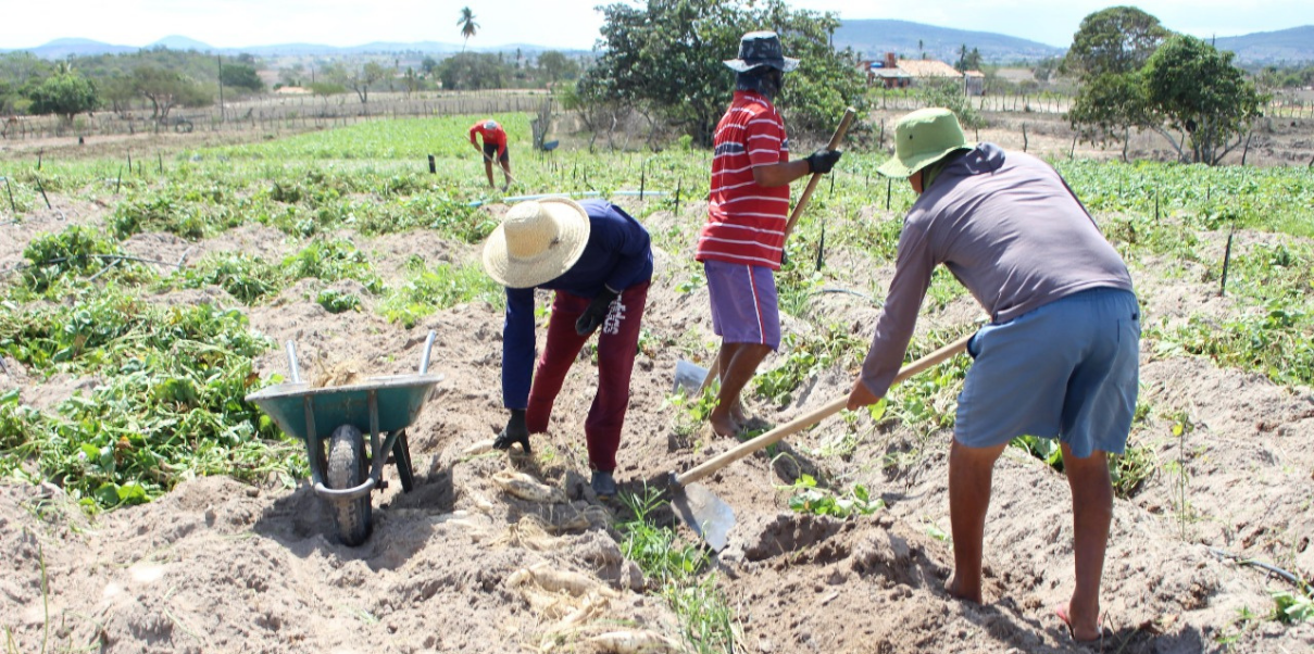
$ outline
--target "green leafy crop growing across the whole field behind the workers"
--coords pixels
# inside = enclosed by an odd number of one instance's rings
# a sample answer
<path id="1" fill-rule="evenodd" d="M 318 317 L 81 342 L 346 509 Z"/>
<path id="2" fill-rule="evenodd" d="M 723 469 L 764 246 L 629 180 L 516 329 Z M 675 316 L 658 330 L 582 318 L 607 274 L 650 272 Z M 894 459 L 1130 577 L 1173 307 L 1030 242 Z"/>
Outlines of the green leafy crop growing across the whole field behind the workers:
<path id="1" fill-rule="evenodd" d="M 527 114 L 497 118 L 514 143 L 528 141 Z M 33 239 L 25 263 L 4 272 L 0 352 L 38 377 L 95 369 L 108 383 L 46 410 L 20 403 L 16 390 L 0 397 L 0 474 L 53 481 L 89 508 L 148 500 L 192 475 L 304 474 L 297 448 L 242 401 L 272 381 L 251 378 L 252 357 L 272 344 L 246 327 L 240 310 L 160 306 L 148 298 L 162 289 L 218 286 L 252 305 L 298 278 L 355 280 L 381 299 L 388 319 L 405 324 L 456 302 L 499 302 L 498 289 L 476 263 L 432 269 L 418 263 L 405 284 L 389 286 L 350 239 L 334 236 L 342 230 L 363 236 L 431 230 L 453 242 L 480 243 L 495 225 L 481 205 L 499 196 L 487 188 L 480 155 L 465 141 L 473 120 L 378 121 L 185 151 L 139 160 L 133 168 L 118 160 L 45 162 L 39 171 L 12 163 L 0 204 L 12 197 L 5 215 L 20 225 L 43 205 L 42 193 L 99 202 L 109 213 L 104 225 Z M 435 156 L 436 175 L 427 171 L 427 155 Z M 819 186 L 781 276 L 787 311 L 803 314 L 809 292 L 851 281 L 842 278 L 844 271 L 817 271 L 819 259 L 845 250 L 892 257 L 899 222 L 861 218 L 872 211 L 897 217 L 913 201 L 907 185 L 890 185 L 874 173 L 883 159 L 853 147 Z M 686 211 L 707 193 L 703 151 L 535 154 L 522 146 L 512 148 L 511 160 L 518 181 L 512 193 L 664 193 L 643 204 L 648 213 Z M 1083 160 L 1055 165 L 1133 267 L 1148 260 L 1190 263 L 1221 281 L 1223 260 L 1205 255 L 1197 231 L 1296 236 L 1230 261 L 1227 292 L 1236 303 L 1230 319 L 1152 326 L 1147 336 L 1158 351 L 1209 356 L 1280 383 L 1314 383 L 1314 251 L 1305 240 L 1314 234 L 1309 171 Z M 658 246 L 687 248 L 698 217 L 682 215 L 687 219 L 654 234 Z M 281 231 L 296 253 L 271 260 L 233 252 L 171 274 L 120 259 L 121 243 L 134 234 L 196 240 L 246 225 Z M 823 230 L 827 251 L 819 252 Z M 692 261 L 671 265 L 669 278 L 700 282 Z M 882 288 L 857 290 L 883 295 Z M 932 299 L 962 293 L 946 278 L 933 288 Z M 336 311 L 359 306 L 359 298 L 336 294 L 322 302 Z M 782 397 L 821 369 L 857 365 L 853 356 L 827 351 L 825 341 L 794 343 L 784 365 L 759 380 L 759 393 Z M 930 387 L 909 385 L 891 398 L 899 406 L 892 415 L 943 427 L 943 412 L 928 414 L 929 399 L 918 393 L 933 395 L 946 383 L 953 385 L 950 378 Z"/>

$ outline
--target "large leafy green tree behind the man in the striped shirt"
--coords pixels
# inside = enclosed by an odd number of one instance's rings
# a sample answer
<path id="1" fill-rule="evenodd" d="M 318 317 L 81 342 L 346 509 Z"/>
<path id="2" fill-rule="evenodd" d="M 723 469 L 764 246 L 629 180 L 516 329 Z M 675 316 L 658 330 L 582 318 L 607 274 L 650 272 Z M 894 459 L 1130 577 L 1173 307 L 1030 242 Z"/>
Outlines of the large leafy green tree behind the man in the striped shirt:
<path id="1" fill-rule="evenodd" d="M 774 29 L 784 53 L 802 59 L 778 98 L 791 133 L 829 133 L 846 105 L 862 101 L 865 80 L 851 51 L 828 45 L 838 26 L 832 13 L 795 12 L 783 0 L 648 0 L 602 12 L 602 55 L 578 81 L 573 97 L 581 104 L 653 113 L 710 144 L 735 80 L 721 60 L 757 29 Z"/>

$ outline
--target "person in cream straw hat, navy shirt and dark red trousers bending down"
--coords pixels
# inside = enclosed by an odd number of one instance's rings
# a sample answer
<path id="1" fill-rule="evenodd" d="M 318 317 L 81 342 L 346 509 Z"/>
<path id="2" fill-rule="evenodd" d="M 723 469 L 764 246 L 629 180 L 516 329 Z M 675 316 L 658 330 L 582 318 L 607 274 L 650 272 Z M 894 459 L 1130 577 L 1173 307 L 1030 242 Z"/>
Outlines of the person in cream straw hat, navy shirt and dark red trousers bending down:
<path id="1" fill-rule="evenodd" d="M 603 200 L 520 202 L 484 246 L 484 269 L 506 286 L 502 402 L 511 411 L 493 443 L 548 431 L 552 402 L 589 336 L 598 335 L 598 394 L 583 423 L 593 491 L 614 496 L 616 449 L 629 406 L 629 373 L 653 274 L 648 230 Z M 548 339 L 533 366 L 533 289 L 552 289 Z M 532 372 L 532 374 L 531 374 Z M 532 380 L 532 385 L 531 385 Z"/>

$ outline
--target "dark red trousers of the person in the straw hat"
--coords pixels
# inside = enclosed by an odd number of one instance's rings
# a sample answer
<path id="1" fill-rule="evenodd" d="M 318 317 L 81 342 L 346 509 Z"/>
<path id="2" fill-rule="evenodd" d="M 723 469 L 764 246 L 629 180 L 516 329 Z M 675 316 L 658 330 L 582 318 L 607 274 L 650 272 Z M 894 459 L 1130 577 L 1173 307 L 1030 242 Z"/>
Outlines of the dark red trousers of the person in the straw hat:
<path id="1" fill-rule="evenodd" d="M 561 393 L 570 364 L 589 336 L 576 334 L 574 323 L 589 307 L 590 298 L 556 292 L 552 318 L 548 319 L 548 343 L 543 348 L 533 383 L 530 386 L 530 406 L 524 412 L 530 433 L 548 431 L 552 403 Z M 639 352 L 639 323 L 648 302 L 648 282 L 631 286 L 611 302 L 607 318 L 598 327 L 598 394 L 589 407 L 583 423 L 589 444 L 589 466 L 594 470 L 616 469 L 616 449 L 620 448 L 620 428 L 629 408 L 629 373 L 635 369 Z"/>

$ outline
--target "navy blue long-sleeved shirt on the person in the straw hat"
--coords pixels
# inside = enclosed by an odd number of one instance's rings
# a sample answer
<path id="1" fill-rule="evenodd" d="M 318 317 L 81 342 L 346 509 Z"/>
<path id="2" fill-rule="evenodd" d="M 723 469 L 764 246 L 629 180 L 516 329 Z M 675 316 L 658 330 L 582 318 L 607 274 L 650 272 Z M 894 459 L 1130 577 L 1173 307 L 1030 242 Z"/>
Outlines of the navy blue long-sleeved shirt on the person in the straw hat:
<path id="1" fill-rule="evenodd" d="M 535 289 L 594 298 L 603 285 L 619 293 L 653 276 L 650 239 L 639 221 L 606 200 L 585 200 L 579 205 L 589 214 L 589 244 L 579 260 L 555 280 L 527 289 L 506 289 L 506 323 L 502 326 L 502 403 L 506 408 L 530 406 Z"/>

